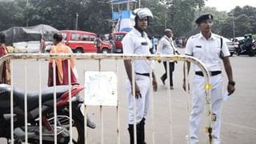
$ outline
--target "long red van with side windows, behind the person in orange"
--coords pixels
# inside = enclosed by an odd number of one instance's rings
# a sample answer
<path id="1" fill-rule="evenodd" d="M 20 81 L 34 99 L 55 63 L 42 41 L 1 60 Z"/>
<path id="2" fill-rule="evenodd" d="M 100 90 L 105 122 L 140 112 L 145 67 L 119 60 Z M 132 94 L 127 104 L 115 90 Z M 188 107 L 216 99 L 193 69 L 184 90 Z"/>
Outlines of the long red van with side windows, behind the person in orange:
<path id="1" fill-rule="evenodd" d="M 61 30 L 63 41 L 67 46 L 75 53 L 96 53 L 97 48 L 95 45 L 96 34 L 81 31 L 81 30 Z M 101 52 L 110 53 L 111 44 L 108 42 L 102 42 Z"/>

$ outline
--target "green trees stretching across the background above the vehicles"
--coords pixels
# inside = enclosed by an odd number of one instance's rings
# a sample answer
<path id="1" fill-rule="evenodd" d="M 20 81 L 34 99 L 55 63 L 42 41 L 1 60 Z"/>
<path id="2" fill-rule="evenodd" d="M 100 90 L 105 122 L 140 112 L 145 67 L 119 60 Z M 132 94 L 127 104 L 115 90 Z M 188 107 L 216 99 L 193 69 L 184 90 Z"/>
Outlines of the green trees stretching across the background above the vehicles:
<path id="1" fill-rule="evenodd" d="M 214 15 L 214 33 L 227 38 L 256 33 L 256 8 L 235 7 L 230 12 L 204 7 L 204 0 L 143 0 L 154 14 L 148 33 L 162 36 L 166 28 L 173 29 L 174 37 L 188 37 L 198 33 L 194 19 L 200 14 Z M 126 9 L 126 4 L 119 6 Z M 131 9 L 138 4 L 131 5 Z M 111 32 L 111 6 L 109 0 L 14 0 L 0 2 L 0 30 L 11 26 L 47 24 L 58 30 L 76 27 L 78 30 L 98 34 Z M 234 32 L 234 33 L 233 33 Z"/>

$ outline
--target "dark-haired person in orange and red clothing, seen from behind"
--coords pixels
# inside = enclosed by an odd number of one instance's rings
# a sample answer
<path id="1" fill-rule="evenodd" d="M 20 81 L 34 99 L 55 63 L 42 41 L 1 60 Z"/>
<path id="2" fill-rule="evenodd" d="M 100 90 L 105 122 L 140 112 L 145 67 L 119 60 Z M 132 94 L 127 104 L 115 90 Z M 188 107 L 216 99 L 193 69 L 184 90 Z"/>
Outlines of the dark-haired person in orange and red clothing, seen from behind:
<path id="1" fill-rule="evenodd" d="M 54 34 L 54 46 L 51 47 L 50 54 L 73 54 L 69 46 L 62 43 L 62 34 Z M 67 58 L 56 58 L 50 59 L 49 62 L 49 77 L 48 86 L 54 86 L 54 72 L 53 62 L 56 64 L 56 85 L 68 85 L 68 59 Z M 77 78 L 74 74 L 74 63 L 75 59 L 70 58 L 70 76 L 71 84 L 77 82 Z"/>

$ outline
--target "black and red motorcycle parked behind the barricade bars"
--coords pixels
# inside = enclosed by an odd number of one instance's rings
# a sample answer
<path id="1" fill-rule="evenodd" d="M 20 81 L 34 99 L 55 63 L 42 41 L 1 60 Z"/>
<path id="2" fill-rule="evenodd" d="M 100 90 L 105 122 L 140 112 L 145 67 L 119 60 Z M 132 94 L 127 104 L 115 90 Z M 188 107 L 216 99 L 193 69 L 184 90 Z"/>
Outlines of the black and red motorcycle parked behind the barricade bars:
<path id="1" fill-rule="evenodd" d="M 0 84 L 0 137 L 10 140 L 10 85 Z M 71 142 L 82 144 L 84 138 L 84 115 L 83 102 L 79 100 L 78 93 L 83 86 L 74 85 L 71 88 L 72 101 L 72 130 L 77 130 L 77 137 Z M 14 87 L 14 143 L 25 142 L 25 90 Z M 39 143 L 39 106 L 38 92 L 27 92 L 27 138 L 30 143 Z M 57 108 L 57 143 L 67 144 L 70 142 L 70 116 L 69 116 L 69 86 L 56 86 Z M 87 126 L 95 128 L 87 116 Z M 42 143 L 54 144 L 54 87 L 42 90 Z"/>

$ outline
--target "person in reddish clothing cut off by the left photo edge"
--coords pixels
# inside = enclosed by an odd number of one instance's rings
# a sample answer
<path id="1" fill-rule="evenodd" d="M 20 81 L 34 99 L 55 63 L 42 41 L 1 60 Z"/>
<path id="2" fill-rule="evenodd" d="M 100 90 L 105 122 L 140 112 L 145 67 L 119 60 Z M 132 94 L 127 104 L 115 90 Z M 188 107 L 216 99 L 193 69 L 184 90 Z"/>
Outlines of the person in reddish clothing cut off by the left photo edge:
<path id="1" fill-rule="evenodd" d="M 6 35 L 0 34 L 0 58 L 6 54 L 8 54 L 8 50 L 6 48 Z M 2 62 L 0 66 L 0 83 L 6 83 L 10 85 L 10 60 L 6 60 Z"/>

